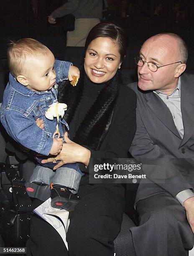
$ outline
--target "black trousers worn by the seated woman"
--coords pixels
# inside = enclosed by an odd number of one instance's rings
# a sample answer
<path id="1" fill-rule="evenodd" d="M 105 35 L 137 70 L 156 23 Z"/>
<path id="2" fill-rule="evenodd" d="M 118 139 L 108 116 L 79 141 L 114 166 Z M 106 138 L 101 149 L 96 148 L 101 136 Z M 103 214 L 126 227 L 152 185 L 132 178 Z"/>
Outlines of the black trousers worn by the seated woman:
<path id="1" fill-rule="evenodd" d="M 46 221 L 33 215 L 27 256 L 113 256 L 124 208 L 124 188 L 116 184 L 88 184 L 81 180 L 81 200 L 71 218 L 66 240 Z M 40 203 L 39 203 L 40 204 Z M 69 253 L 69 254 L 68 254 Z"/>

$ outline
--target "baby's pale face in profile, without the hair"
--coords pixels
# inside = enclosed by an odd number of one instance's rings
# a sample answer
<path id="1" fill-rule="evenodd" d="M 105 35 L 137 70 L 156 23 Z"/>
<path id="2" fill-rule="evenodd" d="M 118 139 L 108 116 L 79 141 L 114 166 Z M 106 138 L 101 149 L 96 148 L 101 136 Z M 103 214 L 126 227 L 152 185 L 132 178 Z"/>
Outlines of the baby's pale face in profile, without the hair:
<path id="1" fill-rule="evenodd" d="M 47 55 L 29 57 L 26 60 L 28 65 L 27 88 L 35 91 L 46 91 L 51 89 L 56 81 L 54 71 L 54 55 L 48 51 Z"/>

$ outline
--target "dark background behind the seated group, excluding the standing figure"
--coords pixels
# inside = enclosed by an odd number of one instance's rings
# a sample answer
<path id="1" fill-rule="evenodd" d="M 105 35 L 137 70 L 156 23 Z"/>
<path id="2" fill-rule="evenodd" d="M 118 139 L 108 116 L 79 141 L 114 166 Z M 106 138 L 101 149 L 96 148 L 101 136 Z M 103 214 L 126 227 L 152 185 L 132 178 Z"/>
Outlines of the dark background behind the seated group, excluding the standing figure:
<path id="1" fill-rule="evenodd" d="M 37 2 L 38 15 L 33 14 L 33 2 Z M 65 0 L 2 0 L 0 8 L 0 102 L 8 82 L 7 48 L 9 40 L 35 38 L 45 44 L 58 59 L 78 65 L 83 49 L 66 48 L 64 18 L 56 24 L 48 23 L 48 15 L 63 5 Z M 128 54 L 122 72 L 128 82 L 135 81 L 134 57 L 143 42 L 161 32 L 180 35 L 189 46 L 187 72 L 194 73 L 194 1 L 174 0 L 108 0 L 108 20 L 125 29 L 128 38 Z M 154 15 L 160 5 L 158 15 Z M 178 6 L 174 11 L 174 6 Z M 179 13 L 179 14 L 177 14 Z"/>

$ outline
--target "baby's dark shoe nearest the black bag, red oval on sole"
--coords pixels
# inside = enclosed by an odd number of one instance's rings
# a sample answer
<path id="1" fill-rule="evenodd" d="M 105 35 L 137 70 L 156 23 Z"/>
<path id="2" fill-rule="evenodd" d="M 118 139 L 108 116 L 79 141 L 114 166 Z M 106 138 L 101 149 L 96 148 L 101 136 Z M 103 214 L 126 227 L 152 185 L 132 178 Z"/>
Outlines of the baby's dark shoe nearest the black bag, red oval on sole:
<path id="1" fill-rule="evenodd" d="M 50 185 L 42 182 L 27 182 L 25 184 L 29 197 L 46 201 L 50 197 Z"/>

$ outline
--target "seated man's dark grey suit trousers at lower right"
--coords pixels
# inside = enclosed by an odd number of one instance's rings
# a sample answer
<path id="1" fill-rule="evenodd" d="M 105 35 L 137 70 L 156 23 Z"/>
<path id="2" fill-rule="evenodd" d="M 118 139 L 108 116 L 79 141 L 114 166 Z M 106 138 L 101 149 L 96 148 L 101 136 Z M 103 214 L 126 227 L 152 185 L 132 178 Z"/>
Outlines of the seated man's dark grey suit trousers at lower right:
<path id="1" fill-rule="evenodd" d="M 194 234 L 184 207 L 168 193 L 139 200 L 138 227 L 130 228 L 137 256 L 186 256 Z"/>

